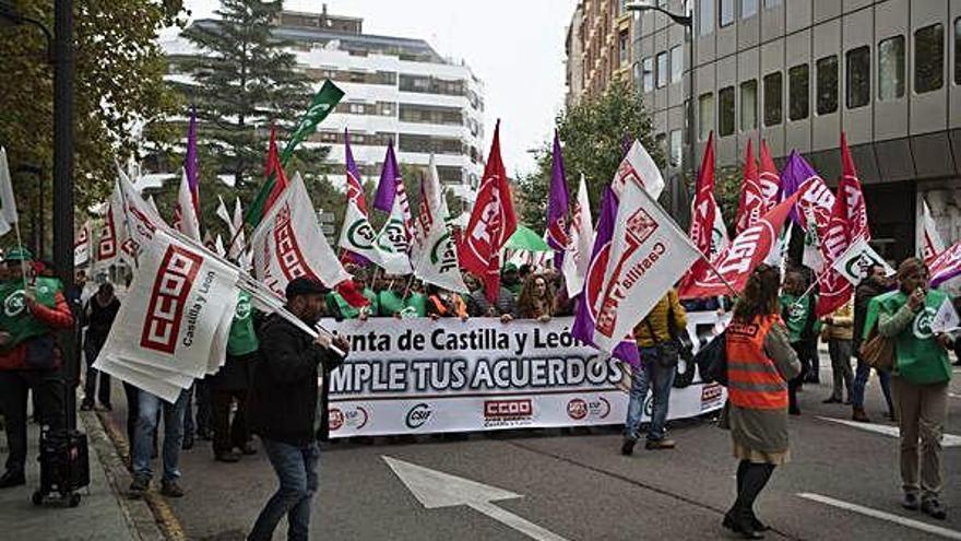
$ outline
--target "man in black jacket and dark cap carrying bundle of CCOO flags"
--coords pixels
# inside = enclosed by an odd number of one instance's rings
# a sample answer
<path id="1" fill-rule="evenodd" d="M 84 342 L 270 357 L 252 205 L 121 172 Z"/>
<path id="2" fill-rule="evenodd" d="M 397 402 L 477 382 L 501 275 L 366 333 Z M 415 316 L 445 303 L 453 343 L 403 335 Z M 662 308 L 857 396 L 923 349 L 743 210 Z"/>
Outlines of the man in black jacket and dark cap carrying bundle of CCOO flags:
<path id="1" fill-rule="evenodd" d="M 287 309 L 313 327 L 324 311 L 327 290 L 320 282 L 297 278 L 287 284 Z M 277 474 L 281 486 L 268 501 L 248 539 L 270 540 L 277 524 L 287 516 L 287 539 L 306 540 L 310 524 L 310 501 L 317 492 L 319 436 L 327 433 L 325 393 L 318 392 L 318 375 L 324 387 L 331 371 L 343 363 L 331 344 L 346 352 L 343 337 L 311 338 L 276 314 L 260 328 L 261 362 L 257 366 L 251 397 L 253 432 Z M 320 400 L 318 400 L 320 395 Z"/>

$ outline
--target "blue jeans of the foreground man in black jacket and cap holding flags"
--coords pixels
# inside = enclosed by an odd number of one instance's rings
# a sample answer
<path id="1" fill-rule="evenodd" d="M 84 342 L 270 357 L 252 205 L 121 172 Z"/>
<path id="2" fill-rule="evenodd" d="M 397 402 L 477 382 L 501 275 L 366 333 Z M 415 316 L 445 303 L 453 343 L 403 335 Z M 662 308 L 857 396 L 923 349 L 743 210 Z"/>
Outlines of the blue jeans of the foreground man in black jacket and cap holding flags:
<path id="1" fill-rule="evenodd" d="M 310 501 L 317 492 L 317 462 L 320 448 L 316 442 L 297 446 L 261 438 L 266 456 L 281 482 L 277 492 L 268 499 L 249 541 L 270 541 L 277 524 L 287 516 L 287 539 L 306 540 L 310 527 Z"/>

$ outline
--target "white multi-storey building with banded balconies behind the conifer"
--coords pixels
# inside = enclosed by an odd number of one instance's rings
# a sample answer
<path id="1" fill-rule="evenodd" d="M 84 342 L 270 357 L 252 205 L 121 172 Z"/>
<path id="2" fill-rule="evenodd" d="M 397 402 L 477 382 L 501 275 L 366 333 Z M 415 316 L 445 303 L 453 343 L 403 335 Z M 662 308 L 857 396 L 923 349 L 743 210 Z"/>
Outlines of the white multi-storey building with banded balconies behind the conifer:
<path id="1" fill-rule="evenodd" d="M 423 39 L 365 34 L 361 19 L 329 14 L 325 5 L 321 13 L 281 12 L 274 35 L 293 44 L 317 89 L 330 79 L 345 92 L 307 144 L 330 145 L 329 160 L 342 164 L 349 129 L 360 174 L 375 181 L 389 141 L 401 164 L 426 166 L 434 153 L 441 183 L 472 197 L 484 170 L 484 84 L 470 67 Z M 197 54 L 179 37 L 162 45 L 170 57 Z"/>

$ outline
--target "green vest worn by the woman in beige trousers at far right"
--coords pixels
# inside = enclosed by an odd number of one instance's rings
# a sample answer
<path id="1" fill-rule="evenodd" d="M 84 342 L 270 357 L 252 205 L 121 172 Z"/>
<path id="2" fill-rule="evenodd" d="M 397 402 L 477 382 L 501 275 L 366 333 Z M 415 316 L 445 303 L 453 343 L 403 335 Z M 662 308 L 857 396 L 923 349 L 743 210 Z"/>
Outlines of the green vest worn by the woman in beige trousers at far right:
<path id="1" fill-rule="evenodd" d="M 930 330 L 932 320 L 947 295 L 932 290 L 910 327 L 894 338 L 894 375 L 916 385 L 940 384 L 951 379 L 948 352 L 938 343 Z M 907 304 L 907 295 L 901 291 L 880 302 L 880 309 L 893 316 Z"/>

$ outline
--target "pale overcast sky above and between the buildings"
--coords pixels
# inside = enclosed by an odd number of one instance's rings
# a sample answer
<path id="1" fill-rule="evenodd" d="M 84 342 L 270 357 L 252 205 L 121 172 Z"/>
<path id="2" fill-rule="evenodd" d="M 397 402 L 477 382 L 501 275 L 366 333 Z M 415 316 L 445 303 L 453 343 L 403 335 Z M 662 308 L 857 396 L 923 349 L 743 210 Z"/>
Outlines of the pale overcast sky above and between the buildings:
<path id="1" fill-rule="evenodd" d="M 220 2 L 186 0 L 192 17 Z M 366 34 L 426 39 L 444 57 L 463 59 L 485 84 L 484 154 L 495 121 L 508 174 L 534 170 L 534 155 L 553 134 L 563 105 L 565 37 L 577 0 L 286 0 L 284 8 L 364 19 Z"/>

